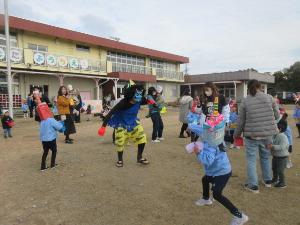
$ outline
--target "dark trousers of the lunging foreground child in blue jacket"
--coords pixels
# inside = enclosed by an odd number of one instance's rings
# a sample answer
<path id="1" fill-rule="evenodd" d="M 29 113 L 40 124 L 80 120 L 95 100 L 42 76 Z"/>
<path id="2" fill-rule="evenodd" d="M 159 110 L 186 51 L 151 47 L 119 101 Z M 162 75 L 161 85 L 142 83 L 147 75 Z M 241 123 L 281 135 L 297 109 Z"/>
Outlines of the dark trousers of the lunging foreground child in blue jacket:
<path id="1" fill-rule="evenodd" d="M 231 214 L 236 216 L 239 213 L 239 210 L 231 203 L 231 201 L 222 195 L 222 191 L 230 177 L 231 172 L 222 176 L 211 177 L 205 175 L 202 177 L 203 199 L 209 199 L 209 184 L 211 183 L 214 199 L 228 209 Z"/>

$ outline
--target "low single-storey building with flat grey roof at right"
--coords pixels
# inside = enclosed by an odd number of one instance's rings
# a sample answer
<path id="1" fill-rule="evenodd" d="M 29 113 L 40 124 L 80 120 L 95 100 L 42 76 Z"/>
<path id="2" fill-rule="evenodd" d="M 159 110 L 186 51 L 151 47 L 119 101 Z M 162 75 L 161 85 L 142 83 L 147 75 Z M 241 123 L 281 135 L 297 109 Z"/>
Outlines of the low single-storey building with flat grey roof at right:
<path id="1" fill-rule="evenodd" d="M 274 76 L 269 73 L 259 73 L 247 69 L 234 72 L 188 75 L 185 76 L 185 83 L 181 86 L 181 90 L 189 88 L 192 96 L 200 96 L 203 84 L 213 82 L 218 87 L 219 92 L 226 98 L 241 102 L 247 96 L 247 82 L 251 79 L 260 81 L 262 90 L 265 93 L 267 93 L 268 84 L 275 82 Z"/>

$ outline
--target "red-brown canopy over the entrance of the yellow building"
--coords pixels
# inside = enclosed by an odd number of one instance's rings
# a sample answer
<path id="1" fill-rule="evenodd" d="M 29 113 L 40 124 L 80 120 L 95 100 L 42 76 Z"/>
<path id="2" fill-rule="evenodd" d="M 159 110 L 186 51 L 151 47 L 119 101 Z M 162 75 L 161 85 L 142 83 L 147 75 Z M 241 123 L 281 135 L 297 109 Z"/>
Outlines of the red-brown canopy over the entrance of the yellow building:
<path id="1" fill-rule="evenodd" d="M 107 74 L 109 77 L 119 78 L 120 80 L 133 80 L 146 83 L 156 83 L 156 76 L 150 74 L 112 72 Z"/>

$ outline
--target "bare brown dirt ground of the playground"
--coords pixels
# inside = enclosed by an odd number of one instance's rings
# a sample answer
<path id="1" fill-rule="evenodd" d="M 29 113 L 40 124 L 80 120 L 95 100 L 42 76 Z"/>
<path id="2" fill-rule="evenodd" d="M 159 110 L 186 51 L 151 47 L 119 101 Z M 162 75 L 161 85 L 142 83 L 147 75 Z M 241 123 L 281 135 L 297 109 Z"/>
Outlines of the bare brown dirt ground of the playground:
<path id="1" fill-rule="evenodd" d="M 124 167 L 116 168 L 111 129 L 98 137 L 100 122 L 93 118 L 77 125 L 73 145 L 59 136 L 59 167 L 45 172 L 39 171 L 38 124 L 17 119 L 14 137 L 0 137 L 0 225 L 228 225 L 232 216 L 219 203 L 194 204 L 202 194 L 203 170 L 195 156 L 185 152 L 189 140 L 178 138 L 177 115 L 170 110 L 163 118 L 164 142 L 146 145 L 148 166 L 136 164 L 131 145 Z M 142 119 L 142 124 L 149 140 L 151 120 Z M 286 170 L 286 189 L 260 186 L 259 194 L 244 191 L 244 149 L 229 151 L 233 177 L 224 194 L 246 212 L 249 225 L 300 225 L 300 139 L 292 119 L 290 125 L 294 167 Z"/>

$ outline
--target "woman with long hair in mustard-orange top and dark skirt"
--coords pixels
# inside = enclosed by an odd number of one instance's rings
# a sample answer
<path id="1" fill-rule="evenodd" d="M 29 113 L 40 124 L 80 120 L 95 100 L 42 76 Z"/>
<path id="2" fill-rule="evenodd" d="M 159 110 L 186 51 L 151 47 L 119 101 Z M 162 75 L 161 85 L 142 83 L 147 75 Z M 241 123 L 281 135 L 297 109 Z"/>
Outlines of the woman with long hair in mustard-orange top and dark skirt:
<path id="1" fill-rule="evenodd" d="M 68 94 L 68 90 L 65 86 L 61 86 L 58 90 L 57 96 L 57 110 L 62 121 L 65 122 L 65 143 L 72 144 L 73 139 L 70 138 L 70 134 L 76 133 L 73 118 L 70 112 L 71 101 Z"/>

